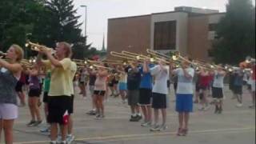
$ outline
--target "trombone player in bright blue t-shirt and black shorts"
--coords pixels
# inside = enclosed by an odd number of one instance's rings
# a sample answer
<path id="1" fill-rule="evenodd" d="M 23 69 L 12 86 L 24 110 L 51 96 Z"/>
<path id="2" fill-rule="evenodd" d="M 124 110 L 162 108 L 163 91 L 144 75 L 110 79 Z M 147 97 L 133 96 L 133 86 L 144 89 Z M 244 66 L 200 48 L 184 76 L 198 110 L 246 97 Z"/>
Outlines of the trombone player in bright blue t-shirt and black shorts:
<path id="1" fill-rule="evenodd" d="M 150 74 L 150 68 L 153 65 L 150 64 L 149 60 L 146 60 L 143 63 L 143 66 L 139 67 L 141 77 L 141 82 L 139 86 L 139 105 L 142 108 L 142 114 L 144 115 L 144 122 L 142 122 L 141 126 L 151 126 L 152 118 L 152 110 L 151 110 L 151 98 L 152 98 L 152 76 Z"/>

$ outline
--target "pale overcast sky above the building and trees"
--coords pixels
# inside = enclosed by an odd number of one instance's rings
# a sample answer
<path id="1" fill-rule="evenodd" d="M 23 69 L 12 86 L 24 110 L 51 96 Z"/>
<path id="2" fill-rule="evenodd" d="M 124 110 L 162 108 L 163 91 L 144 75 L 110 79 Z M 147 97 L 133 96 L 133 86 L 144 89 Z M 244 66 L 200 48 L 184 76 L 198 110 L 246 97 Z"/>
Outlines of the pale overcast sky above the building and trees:
<path id="1" fill-rule="evenodd" d="M 105 46 L 108 18 L 120 18 L 142 14 L 152 14 L 174 10 L 176 6 L 193 6 L 226 11 L 228 0 L 74 0 L 74 6 L 81 15 L 79 22 L 85 22 L 85 8 L 87 6 L 87 43 L 92 43 L 98 50 L 102 49 L 103 35 Z M 255 1 L 254 6 L 255 6 Z M 85 25 L 82 25 L 84 34 Z"/>

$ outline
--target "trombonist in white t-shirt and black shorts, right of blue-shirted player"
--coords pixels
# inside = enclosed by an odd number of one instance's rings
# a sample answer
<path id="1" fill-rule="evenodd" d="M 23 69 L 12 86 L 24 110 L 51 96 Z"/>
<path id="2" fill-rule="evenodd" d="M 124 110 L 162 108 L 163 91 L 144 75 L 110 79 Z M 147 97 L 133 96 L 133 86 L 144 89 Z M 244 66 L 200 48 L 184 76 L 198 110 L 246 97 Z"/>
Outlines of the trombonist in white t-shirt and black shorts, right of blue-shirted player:
<path id="1" fill-rule="evenodd" d="M 152 90 L 152 108 L 154 109 L 154 125 L 151 131 L 166 130 L 166 94 L 168 94 L 167 79 L 169 70 L 164 66 L 162 61 L 157 66 L 150 69 L 150 74 L 155 77 Z M 159 110 L 162 112 L 162 125 L 158 125 Z"/>

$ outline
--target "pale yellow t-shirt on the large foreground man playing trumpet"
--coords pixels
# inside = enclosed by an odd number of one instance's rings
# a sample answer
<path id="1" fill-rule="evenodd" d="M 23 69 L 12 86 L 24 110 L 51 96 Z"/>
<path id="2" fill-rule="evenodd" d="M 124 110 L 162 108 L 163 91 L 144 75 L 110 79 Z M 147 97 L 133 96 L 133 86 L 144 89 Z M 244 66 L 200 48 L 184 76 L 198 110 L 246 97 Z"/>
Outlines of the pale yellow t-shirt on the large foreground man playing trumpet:
<path id="1" fill-rule="evenodd" d="M 71 96 L 74 93 L 72 62 L 70 58 L 64 58 L 60 62 L 62 67 L 55 67 L 50 61 L 44 62 L 46 66 L 51 66 L 49 96 Z"/>

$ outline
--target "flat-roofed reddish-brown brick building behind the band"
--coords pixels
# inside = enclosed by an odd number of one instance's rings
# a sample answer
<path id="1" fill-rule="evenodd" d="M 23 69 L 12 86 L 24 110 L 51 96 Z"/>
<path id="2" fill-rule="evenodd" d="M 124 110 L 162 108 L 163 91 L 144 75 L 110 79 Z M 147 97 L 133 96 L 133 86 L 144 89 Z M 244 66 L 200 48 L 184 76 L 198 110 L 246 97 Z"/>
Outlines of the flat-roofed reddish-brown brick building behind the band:
<path id="1" fill-rule="evenodd" d="M 146 49 L 210 61 L 208 50 L 216 36 L 218 10 L 175 7 L 174 11 L 108 20 L 107 53 L 127 50 L 146 54 Z"/>

